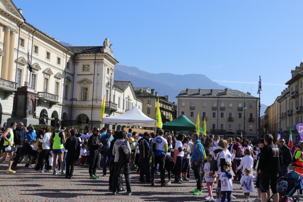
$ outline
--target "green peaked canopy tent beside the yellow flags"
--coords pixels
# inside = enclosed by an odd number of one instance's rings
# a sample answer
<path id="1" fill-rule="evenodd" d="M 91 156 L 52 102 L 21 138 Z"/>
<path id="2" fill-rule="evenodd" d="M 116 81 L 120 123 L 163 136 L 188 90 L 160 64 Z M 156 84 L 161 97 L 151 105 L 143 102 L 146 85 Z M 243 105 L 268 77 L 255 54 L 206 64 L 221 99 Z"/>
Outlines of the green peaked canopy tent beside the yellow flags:
<path id="1" fill-rule="evenodd" d="M 172 121 L 162 124 L 162 129 L 166 131 L 196 131 L 196 124 L 186 116 L 181 115 Z M 201 127 L 200 133 L 203 133 L 203 129 Z"/>

